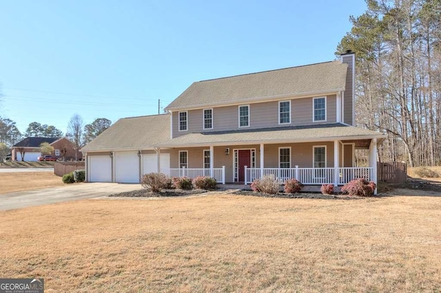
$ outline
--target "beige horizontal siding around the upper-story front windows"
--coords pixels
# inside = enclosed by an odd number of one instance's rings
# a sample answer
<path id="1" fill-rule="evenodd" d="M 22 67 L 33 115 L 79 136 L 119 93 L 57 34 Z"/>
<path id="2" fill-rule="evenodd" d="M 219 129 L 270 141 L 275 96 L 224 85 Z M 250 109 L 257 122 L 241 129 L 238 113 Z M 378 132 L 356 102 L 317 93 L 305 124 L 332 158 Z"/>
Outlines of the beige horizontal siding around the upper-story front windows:
<path id="1" fill-rule="evenodd" d="M 284 99 L 287 100 L 287 99 Z M 291 123 L 278 124 L 278 100 L 249 104 L 249 127 L 246 129 L 260 129 L 267 127 L 302 126 L 310 124 L 336 123 L 336 95 L 326 97 L 327 120 L 313 122 L 313 97 L 291 100 Z M 213 129 L 203 129 L 203 109 L 188 111 L 187 131 L 178 131 L 178 111 L 173 115 L 173 138 L 187 133 L 200 133 L 209 131 L 229 131 L 244 129 L 238 126 L 238 105 L 213 108 Z"/>

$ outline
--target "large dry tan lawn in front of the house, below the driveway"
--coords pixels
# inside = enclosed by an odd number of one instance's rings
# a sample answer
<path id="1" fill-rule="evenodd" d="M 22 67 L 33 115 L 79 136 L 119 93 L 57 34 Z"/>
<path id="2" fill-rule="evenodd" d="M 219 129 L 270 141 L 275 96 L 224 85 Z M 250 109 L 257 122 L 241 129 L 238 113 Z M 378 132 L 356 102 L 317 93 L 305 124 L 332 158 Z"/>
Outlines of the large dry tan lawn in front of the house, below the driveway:
<path id="1" fill-rule="evenodd" d="M 441 197 L 90 199 L 0 213 L 46 292 L 439 292 Z"/>

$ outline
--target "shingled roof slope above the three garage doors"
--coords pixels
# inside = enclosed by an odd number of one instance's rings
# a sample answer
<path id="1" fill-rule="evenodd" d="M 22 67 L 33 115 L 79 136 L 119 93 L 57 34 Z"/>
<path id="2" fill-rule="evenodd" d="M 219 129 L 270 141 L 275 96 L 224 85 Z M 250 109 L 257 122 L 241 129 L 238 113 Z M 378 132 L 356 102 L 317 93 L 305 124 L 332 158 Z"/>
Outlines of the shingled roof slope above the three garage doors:
<path id="1" fill-rule="evenodd" d="M 121 118 L 81 151 L 121 151 L 152 149 L 170 140 L 170 115 Z"/>

